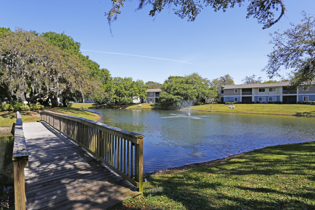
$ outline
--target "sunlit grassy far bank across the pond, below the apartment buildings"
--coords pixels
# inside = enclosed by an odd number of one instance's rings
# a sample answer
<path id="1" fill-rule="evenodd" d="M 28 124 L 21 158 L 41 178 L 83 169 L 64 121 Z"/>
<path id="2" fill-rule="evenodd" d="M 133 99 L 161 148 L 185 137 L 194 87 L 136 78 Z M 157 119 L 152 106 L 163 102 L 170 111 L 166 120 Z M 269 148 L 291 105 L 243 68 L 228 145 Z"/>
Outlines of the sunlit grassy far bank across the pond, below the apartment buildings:
<path id="1" fill-rule="evenodd" d="M 72 107 L 80 108 L 83 106 L 90 109 L 161 109 L 161 110 L 178 110 L 181 107 L 163 106 L 158 103 L 142 103 L 133 105 L 115 105 L 115 104 L 92 104 L 92 103 L 75 103 Z M 192 106 L 194 111 L 220 111 L 235 113 L 253 113 L 253 114 L 275 114 L 275 115 L 297 115 L 297 116 L 315 116 L 315 106 L 301 104 L 236 104 L 235 109 L 229 109 L 229 105 L 224 104 L 205 104 Z"/>

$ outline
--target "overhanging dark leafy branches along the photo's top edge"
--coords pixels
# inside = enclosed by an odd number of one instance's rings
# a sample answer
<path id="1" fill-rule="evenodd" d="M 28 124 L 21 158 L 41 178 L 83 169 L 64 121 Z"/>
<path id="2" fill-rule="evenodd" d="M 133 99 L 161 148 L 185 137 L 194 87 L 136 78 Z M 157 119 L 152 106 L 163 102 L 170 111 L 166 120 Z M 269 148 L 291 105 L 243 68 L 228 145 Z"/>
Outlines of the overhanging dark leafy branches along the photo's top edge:
<path id="1" fill-rule="evenodd" d="M 124 2 L 125 0 L 112 0 L 111 10 L 107 14 L 105 13 L 109 25 L 121 13 L 120 9 L 123 7 Z M 219 10 L 225 12 L 227 8 L 243 6 L 245 0 L 138 0 L 138 2 L 138 10 L 144 9 L 145 6 L 152 7 L 152 10 L 149 12 L 149 15 L 152 17 L 160 13 L 162 9 L 168 8 L 173 9 L 174 14 L 181 19 L 186 18 L 187 21 L 194 21 L 204 7 L 212 7 L 215 12 Z M 284 12 L 285 5 L 283 0 L 249 0 L 246 18 L 253 16 L 258 20 L 258 23 L 263 24 L 263 29 L 265 29 L 278 22 L 284 15 Z"/>

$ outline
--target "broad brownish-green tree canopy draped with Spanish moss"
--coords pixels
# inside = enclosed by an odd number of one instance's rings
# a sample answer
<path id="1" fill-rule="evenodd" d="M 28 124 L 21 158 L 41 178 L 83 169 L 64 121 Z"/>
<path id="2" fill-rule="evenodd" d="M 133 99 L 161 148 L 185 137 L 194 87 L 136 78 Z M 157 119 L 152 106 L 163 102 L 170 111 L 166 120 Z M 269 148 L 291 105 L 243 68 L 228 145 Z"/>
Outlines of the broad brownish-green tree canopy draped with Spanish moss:
<path id="1" fill-rule="evenodd" d="M 98 80 L 79 56 L 23 29 L 0 33 L 0 82 L 1 92 L 9 101 L 16 96 L 43 103 L 48 97 L 54 106 L 62 94 L 73 97 L 99 89 Z"/>

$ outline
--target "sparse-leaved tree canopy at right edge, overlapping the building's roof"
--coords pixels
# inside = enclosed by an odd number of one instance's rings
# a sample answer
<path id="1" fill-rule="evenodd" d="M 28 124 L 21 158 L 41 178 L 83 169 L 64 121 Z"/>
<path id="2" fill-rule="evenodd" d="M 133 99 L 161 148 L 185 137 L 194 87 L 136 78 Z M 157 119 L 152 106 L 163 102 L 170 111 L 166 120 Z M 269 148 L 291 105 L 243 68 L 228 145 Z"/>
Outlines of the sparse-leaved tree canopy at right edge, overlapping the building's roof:
<path id="1" fill-rule="evenodd" d="M 268 65 L 263 69 L 269 78 L 280 76 L 281 69 L 290 72 L 291 88 L 311 84 L 315 78 L 315 17 L 302 12 L 300 24 L 290 23 L 292 28 L 283 33 L 270 34 L 273 51 L 268 54 Z"/>

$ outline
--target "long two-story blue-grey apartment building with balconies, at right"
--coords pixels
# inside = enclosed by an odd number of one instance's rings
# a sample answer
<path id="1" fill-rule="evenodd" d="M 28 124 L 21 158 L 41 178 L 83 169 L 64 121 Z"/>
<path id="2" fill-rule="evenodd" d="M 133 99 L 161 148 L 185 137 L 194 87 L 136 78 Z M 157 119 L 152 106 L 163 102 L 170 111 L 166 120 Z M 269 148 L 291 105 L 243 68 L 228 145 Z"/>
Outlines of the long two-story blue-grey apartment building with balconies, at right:
<path id="1" fill-rule="evenodd" d="M 223 85 L 220 101 L 243 104 L 281 101 L 284 104 L 296 104 L 297 101 L 315 100 L 315 86 L 301 85 L 296 90 L 287 91 L 289 84 L 290 82 Z"/>

